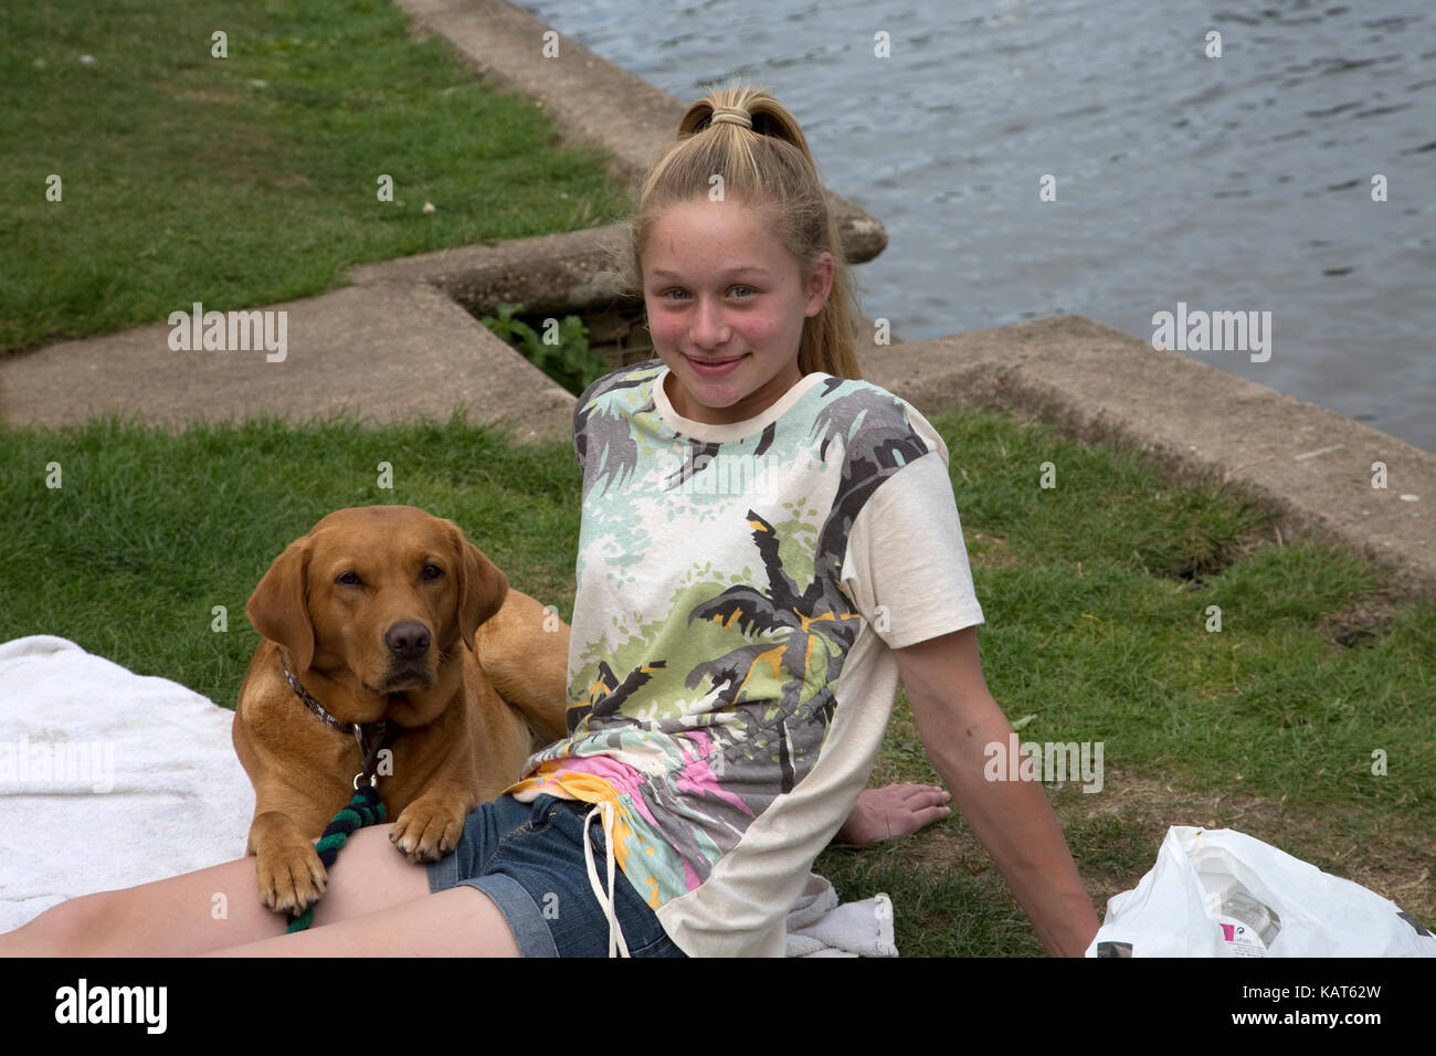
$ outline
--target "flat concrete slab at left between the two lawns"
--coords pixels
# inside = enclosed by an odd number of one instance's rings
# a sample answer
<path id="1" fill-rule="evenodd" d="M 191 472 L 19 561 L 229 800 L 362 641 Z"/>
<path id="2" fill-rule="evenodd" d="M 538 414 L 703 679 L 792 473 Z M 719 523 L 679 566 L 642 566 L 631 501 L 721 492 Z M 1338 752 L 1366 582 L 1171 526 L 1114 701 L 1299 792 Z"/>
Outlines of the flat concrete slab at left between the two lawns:
<path id="1" fill-rule="evenodd" d="M 574 398 L 431 286 L 372 283 L 269 306 L 286 310 L 287 355 L 175 352 L 165 323 L 70 341 L 0 363 L 7 425 L 90 414 L 177 425 L 346 408 L 372 422 L 470 409 L 518 440 L 567 437 Z"/>

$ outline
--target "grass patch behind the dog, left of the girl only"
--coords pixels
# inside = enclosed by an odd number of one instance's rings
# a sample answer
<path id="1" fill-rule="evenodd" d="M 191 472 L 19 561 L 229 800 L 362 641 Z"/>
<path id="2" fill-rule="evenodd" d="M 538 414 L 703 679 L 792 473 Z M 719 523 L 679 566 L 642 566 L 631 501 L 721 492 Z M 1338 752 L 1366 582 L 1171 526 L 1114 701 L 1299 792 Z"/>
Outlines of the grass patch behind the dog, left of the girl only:
<path id="1" fill-rule="evenodd" d="M 0 641 L 62 635 L 234 707 L 260 641 L 244 616 L 260 576 L 325 513 L 370 504 L 455 520 L 516 586 L 564 619 L 573 611 L 570 444 L 508 448 L 460 421 L 373 432 L 345 418 L 181 434 L 109 420 L 6 440 Z M 382 461 L 392 490 L 378 487 Z M 59 488 L 45 486 L 52 463 Z M 217 605 L 223 634 L 211 629 Z"/>

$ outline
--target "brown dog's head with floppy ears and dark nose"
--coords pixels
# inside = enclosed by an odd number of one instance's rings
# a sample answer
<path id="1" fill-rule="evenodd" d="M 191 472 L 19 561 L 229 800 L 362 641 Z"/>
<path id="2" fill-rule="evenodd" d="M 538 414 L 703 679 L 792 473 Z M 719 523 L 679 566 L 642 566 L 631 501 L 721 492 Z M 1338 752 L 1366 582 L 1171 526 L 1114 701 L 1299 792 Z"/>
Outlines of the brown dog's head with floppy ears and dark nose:
<path id="1" fill-rule="evenodd" d="M 314 670 L 356 701 L 375 698 L 362 708 L 372 711 L 379 698 L 416 704 L 457 680 L 458 642 L 474 648 L 507 592 L 504 573 L 452 522 L 366 506 L 336 510 L 290 543 L 246 612 L 296 675 Z"/>

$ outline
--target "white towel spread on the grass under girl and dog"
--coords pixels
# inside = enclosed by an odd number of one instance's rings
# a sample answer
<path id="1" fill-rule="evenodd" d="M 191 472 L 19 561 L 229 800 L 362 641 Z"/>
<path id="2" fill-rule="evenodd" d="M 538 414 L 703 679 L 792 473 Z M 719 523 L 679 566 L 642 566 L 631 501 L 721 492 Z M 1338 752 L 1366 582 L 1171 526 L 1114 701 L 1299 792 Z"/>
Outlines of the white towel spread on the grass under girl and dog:
<path id="1" fill-rule="evenodd" d="M 75 642 L 0 644 L 0 931 L 57 902 L 244 856 L 254 790 L 234 713 Z M 811 875 L 788 955 L 895 957 L 886 895 Z"/>

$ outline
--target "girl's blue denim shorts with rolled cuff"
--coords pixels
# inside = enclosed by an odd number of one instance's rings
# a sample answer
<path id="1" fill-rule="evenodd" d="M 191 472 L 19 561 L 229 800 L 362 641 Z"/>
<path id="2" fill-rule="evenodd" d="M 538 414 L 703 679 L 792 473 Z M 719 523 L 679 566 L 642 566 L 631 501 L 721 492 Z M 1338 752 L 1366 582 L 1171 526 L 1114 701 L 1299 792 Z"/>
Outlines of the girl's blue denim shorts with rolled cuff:
<path id="1" fill-rule="evenodd" d="M 520 803 L 500 796 L 464 822 L 452 855 L 429 866 L 429 891 L 460 884 L 498 907 L 524 957 L 607 957 L 609 921 L 589 886 L 584 816 L 593 809 L 556 796 Z M 600 884 L 607 886 L 603 826 L 587 826 Z M 617 920 L 633 957 L 685 957 L 622 871 L 615 872 Z"/>

